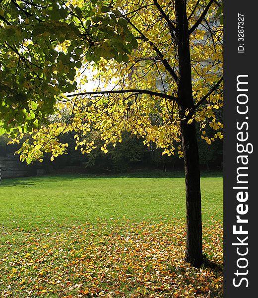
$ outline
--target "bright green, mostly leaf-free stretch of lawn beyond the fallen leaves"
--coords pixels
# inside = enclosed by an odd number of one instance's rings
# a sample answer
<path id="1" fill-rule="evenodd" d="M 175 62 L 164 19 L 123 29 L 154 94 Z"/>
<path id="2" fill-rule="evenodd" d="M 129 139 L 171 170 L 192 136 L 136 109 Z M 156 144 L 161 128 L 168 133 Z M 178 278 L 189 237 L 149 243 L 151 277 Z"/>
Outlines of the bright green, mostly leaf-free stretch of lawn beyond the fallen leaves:
<path id="1" fill-rule="evenodd" d="M 222 221 L 223 178 L 201 178 L 203 221 Z M 4 179 L 0 225 L 55 228 L 98 219 L 161 221 L 185 218 L 185 179 L 144 176 L 43 176 Z"/>

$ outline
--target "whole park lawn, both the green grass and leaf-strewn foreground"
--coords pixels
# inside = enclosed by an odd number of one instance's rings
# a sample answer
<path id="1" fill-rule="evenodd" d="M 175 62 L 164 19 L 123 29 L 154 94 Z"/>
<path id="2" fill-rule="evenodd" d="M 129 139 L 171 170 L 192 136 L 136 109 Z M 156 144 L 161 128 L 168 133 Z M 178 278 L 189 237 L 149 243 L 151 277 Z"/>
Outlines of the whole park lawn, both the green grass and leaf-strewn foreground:
<path id="1" fill-rule="evenodd" d="M 1 297 L 223 297 L 223 178 L 201 177 L 203 250 L 183 262 L 185 179 L 63 175 L 0 186 Z"/>

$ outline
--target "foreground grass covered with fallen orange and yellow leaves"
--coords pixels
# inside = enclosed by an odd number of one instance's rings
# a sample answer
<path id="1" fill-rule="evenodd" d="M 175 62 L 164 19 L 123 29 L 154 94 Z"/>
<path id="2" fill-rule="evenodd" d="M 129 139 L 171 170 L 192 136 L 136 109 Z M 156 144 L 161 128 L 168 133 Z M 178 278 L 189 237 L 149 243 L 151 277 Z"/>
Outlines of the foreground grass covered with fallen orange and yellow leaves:
<path id="1" fill-rule="evenodd" d="M 212 266 L 182 261 L 184 220 L 114 220 L 56 231 L 1 227 L 1 297 L 223 297 L 223 230 L 204 222 Z"/>

